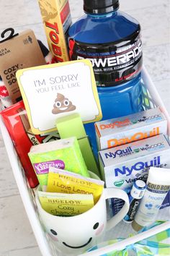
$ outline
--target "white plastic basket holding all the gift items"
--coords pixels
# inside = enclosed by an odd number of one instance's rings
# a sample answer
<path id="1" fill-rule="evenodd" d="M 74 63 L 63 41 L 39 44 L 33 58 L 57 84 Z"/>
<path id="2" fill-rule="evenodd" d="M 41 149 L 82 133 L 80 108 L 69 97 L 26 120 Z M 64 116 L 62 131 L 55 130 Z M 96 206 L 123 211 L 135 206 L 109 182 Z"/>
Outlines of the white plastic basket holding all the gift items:
<path id="1" fill-rule="evenodd" d="M 160 96 L 158 95 L 158 92 L 156 91 L 155 86 L 153 85 L 153 82 L 151 81 L 151 78 L 148 75 L 148 72 L 146 72 L 146 69 L 143 68 L 143 82 L 147 87 L 147 90 L 143 91 L 144 97 L 146 97 L 146 101 L 144 101 L 144 107 L 145 108 L 154 108 L 155 106 L 160 106 L 161 111 L 164 112 L 166 119 L 168 120 L 168 131 L 170 136 L 170 117 L 168 112 L 166 111 L 166 108 L 164 104 L 161 101 Z M 147 101 L 147 99 L 149 101 Z M 27 179 L 24 176 L 24 171 L 22 169 L 22 166 L 19 162 L 19 159 L 17 157 L 17 153 L 14 150 L 14 145 L 12 144 L 12 140 L 9 137 L 9 133 L 6 130 L 6 127 L 0 119 L 0 127 L 1 127 L 1 134 L 4 138 L 4 144 L 6 146 L 7 154 L 9 155 L 9 161 L 12 166 L 12 171 L 14 173 L 14 177 L 17 182 L 17 186 L 20 192 L 20 195 L 22 197 L 22 202 L 24 204 L 24 208 L 26 210 L 27 216 L 30 220 L 30 224 L 32 226 L 32 230 L 34 231 L 35 238 L 37 239 L 37 244 L 40 247 L 40 251 L 42 255 L 44 256 L 52 256 L 52 255 L 61 255 L 55 247 L 53 247 L 53 244 L 48 240 L 48 236 L 46 236 L 45 231 L 41 225 L 40 218 L 37 214 L 37 208 L 35 204 L 35 197 L 34 197 L 34 190 L 30 189 Z M 166 219 L 167 216 L 169 216 L 169 208 L 164 208 L 163 210 L 160 210 L 161 215 L 159 215 L 159 219 Z M 129 237 L 127 239 L 124 239 L 121 242 L 117 242 L 116 244 L 108 245 L 106 247 L 102 247 L 100 249 L 96 249 L 92 252 L 85 253 L 85 255 L 102 255 L 107 252 L 111 252 L 114 249 L 123 249 L 125 246 L 128 246 L 129 244 L 134 244 L 135 242 L 138 242 L 143 239 L 147 239 L 149 236 L 152 236 L 154 234 L 157 234 L 158 232 L 164 231 L 166 229 L 170 228 L 170 221 L 166 221 L 166 223 L 161 224 L 159 226 L 156 226 L 153 229 L 150 229 L 148 231 L 145 231 L 141 234 L 136 234 L 133 237 Z M 123 221 L 117 224 L 117 226 L 109 231 L 109 233 L 106 234 L 104 237 L 104 240 L 109 239 L 116 239 L 118 237 L 128 237 L 129 234 L 134 233 L 133 229 L 130 228 L 129 224 L 125 224 Z"/>

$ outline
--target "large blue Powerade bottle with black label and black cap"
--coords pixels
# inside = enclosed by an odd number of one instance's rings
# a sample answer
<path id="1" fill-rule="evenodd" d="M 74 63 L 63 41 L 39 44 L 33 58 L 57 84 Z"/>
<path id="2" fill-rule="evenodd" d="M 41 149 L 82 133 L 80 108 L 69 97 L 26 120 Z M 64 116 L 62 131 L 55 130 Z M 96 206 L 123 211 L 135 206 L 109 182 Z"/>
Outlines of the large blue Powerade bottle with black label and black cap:
<path id="1" fill-rule="evenodd" d="M 143 110 L 140 25 L 118 9 L 118 0 L 84 0 L 86 14 L 68 30 L 71 60 L 93 66 L 103 120 Z M 85 129 L 97 153 L 94 124 Z"/>

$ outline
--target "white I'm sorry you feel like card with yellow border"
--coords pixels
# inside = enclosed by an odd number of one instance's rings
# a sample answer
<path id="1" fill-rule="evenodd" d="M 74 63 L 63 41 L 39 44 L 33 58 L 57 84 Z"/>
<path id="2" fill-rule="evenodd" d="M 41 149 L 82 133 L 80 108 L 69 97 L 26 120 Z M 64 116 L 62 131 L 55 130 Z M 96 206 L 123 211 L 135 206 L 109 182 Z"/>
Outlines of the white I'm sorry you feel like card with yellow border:
<path id="1" fill-rule="evenodd" d="M 84 123 L 102 119 L 89 60 L 20 69 L 17 81 L 35 134 L 54 131 L 56 119 L 73 113 Z"/>

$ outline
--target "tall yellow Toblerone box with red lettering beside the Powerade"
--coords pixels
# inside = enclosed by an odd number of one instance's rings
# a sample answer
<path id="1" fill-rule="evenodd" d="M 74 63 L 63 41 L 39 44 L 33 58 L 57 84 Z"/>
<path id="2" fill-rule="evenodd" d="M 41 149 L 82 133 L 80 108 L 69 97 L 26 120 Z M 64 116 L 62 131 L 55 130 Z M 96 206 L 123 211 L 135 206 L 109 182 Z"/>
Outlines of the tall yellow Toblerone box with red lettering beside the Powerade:
<path id="1" fill-rule="evenodd" d="M 71 25 L 68 0 L 38 0 L 50 52 L 55 62 L 69 61 L 66 33 Z"/>

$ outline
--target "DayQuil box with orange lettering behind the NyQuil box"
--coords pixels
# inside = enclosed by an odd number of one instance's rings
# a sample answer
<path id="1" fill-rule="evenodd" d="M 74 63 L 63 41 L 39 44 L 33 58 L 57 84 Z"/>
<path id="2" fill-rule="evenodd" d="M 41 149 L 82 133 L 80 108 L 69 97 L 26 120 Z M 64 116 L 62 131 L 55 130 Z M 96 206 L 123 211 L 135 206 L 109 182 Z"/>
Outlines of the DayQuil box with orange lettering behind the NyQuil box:
<path id="1" fill-rule="evenodd" d="M 113 148 L 147 137 L 166 135 L 167 120 L 159 108 L 95 123 L 99 150 Z"/>

